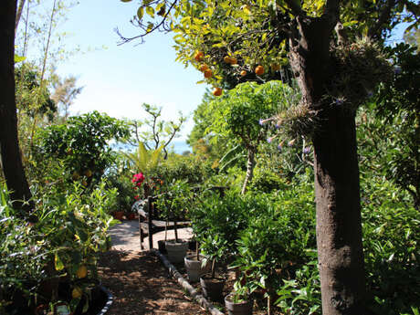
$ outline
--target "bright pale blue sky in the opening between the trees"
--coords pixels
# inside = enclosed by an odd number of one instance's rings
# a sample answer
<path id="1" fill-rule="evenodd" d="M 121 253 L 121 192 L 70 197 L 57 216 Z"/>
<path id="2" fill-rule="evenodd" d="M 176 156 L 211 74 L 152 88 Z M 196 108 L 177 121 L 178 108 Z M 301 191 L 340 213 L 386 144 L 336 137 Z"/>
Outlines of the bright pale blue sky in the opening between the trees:
<path id="1" fill-rule="evenodd" d="M 202 74 L 175 61 L 171 34 L 152 34 L 142 45 L 136 41 L 117 46 L 115 27 L 124 36 L 138 34 L 139 29 L 130 24 L 137 7 L 136 1 L 81 0 L 59 26 L 68 33 L 65 47 L 79 45 L 82 51 L 58 64 L 60 75 L 75 75 L 79 86 L 84 87 L 74 101 L 73 113 L 100 110 L 112 117 L 142 119 L 141 104 L 147 102 L 162 106 L 163 118 L 173 120 L 179 110 L 191 114 L 201 102 L 205 85 L 196 82 Z M 190 118 L 182 138 L 192 126 Z"/>

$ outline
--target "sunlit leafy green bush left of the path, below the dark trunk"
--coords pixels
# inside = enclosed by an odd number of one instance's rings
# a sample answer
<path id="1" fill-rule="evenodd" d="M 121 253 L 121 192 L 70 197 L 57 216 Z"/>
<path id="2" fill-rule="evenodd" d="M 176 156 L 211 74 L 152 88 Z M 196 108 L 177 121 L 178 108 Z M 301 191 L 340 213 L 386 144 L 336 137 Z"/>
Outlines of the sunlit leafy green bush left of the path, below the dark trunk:
<path id="1" fill-rule="evenodd" d="M 116 190 L 106 190 L 104 184 L 90 194 L 84 194 L 79 184 L 65 194 L 52 186 L 48 194 L 34 196 L 37 222 L 29 224 L 17 218 L 2 187 L 2 314 L 27 313 L 26 307 L 34 306 L 35 295 L 37 303 L 70 301 L 74 310 L 81 300 L 71 298 L 71 289 L 75 288 L 89 302 L 89 288 L 98 281 L 97 256 L 110 247 L 107 231 L 116 221 L 107 213 L 116 194 Z M 65 283 L 70 292 L 58 291 L 60 283 Z"/>

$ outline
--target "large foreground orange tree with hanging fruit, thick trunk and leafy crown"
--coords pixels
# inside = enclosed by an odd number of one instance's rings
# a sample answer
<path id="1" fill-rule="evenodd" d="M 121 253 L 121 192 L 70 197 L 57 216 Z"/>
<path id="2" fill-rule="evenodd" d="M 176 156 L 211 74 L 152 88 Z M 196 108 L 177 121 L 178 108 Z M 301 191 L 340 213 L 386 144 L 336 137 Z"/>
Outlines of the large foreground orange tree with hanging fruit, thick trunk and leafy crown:
<path id="1" fill-rule="evenodd" d="M 226 65 L 229 74 L 257 70 L 264 79 L 268 66 L 289 64 L 301 99 L 280 112 L 278 121 L 284 137 L 303 134 L 314 146 L 324 314 L 364 313 L 355 113 L 390 77 L 380 51 L 383 39 L 402 21 L 418 25 L 419 15 L 409 0 L 148 0 L 134 20 L 141 38 L 156 29 L 175 31 L 179 59 L 196 68 L 205 63 L 212 69 L 206 79 L 215 85 Z M 227 64 L 226 56 L 236 62 Z"/>

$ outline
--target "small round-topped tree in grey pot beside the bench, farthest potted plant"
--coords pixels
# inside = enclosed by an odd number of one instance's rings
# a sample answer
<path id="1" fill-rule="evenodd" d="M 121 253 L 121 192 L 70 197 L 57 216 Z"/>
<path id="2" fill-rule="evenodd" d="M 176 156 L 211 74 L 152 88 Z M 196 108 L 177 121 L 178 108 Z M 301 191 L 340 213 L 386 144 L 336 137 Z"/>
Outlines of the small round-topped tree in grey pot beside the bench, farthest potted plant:
<path id="1" fill-rule="evenodd" d="M 188 241 L 178 237 L 177 221 L 185 215 L 188 205 L 191 203 L 192 195 L 188 184 L 183 181 L 173 181 L 164 186 L 165 193 L 160 194 L 156 200 L 156 206 L 161 209 L 166 222 L 173 221 L 175 238 L 165 241 L 165 248 L 168 258 L 173 263 L 184 261 L 188 250 Z"/>

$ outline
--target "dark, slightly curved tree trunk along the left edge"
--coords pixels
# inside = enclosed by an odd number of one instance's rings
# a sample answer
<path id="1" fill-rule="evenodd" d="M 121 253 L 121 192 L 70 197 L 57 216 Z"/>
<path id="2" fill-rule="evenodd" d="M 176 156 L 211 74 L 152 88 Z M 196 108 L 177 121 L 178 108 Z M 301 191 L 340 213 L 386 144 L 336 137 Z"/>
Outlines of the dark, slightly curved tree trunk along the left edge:
<path id="1" fill-rule="evenodd" d="M 16 209 L 31 197 L 17 139 L 15 99 L 15 23 L 16 0 L 0 2 L 0 144 L 5 182 Z"/>

